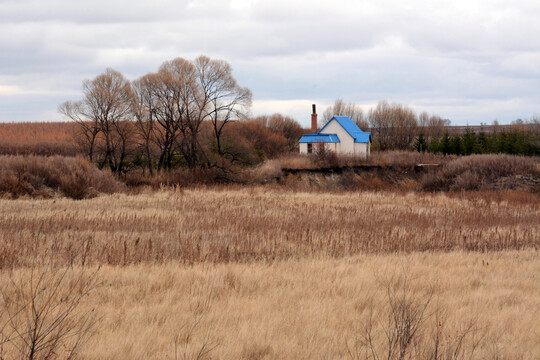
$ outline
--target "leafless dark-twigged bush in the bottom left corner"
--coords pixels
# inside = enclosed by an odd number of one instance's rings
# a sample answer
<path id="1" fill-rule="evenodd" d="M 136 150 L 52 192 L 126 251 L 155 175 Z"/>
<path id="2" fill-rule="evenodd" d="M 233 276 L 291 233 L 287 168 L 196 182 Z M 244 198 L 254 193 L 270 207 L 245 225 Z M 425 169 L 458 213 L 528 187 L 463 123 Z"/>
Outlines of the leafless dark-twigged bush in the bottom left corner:
<path id="1" fill-rule="evenodd" d="M 29 272 L 5 275 L 0 349 L 21 359 L 74 359 L 95 324 L 93 310 L 81 313 L 79 307 L 96 287 L 97 271 L 48 264 L 32 266 Z"/>

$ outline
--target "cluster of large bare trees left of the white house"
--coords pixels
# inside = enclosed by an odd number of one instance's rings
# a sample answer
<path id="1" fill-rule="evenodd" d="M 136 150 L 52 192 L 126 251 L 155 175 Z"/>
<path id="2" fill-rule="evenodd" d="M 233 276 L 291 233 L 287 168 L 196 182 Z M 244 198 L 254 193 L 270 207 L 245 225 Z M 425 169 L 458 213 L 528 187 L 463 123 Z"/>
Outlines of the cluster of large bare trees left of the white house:
<path id="1" fill-rule="evenodd" d="M 200 56 L 166 61 L 133 82 L 107 69 L 83 82 L 82 100 L 59 111 L 79 124 L 80 143 L 100 168 L 123 172 L 138 163 L 152 172 L 211 166 L 209 152 L 224 158 L 227 124 L 246 118 L 251 97 L 227 62 Z M 211 149 L 202 133 L 212 137 Z"/>

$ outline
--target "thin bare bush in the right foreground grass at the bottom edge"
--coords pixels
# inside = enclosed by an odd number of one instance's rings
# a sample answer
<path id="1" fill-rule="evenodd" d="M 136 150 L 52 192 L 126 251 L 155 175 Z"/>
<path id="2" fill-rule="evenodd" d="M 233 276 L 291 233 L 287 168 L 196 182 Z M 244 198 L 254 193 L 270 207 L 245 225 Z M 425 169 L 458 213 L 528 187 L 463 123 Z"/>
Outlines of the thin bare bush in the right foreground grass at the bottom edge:
<path id="1" fill-rule="evenodd" d="M 443 311 L 433 307 L 434 291 L 414 292 L 410 279 L 400 276 L 384 285 L 386 319 L 375 314 L 371 302 L 360 334 L 352 344 L 347 343 L 347 354 L 354 360 L 462 360 L 473 359 L 483 337 L 478 334 L 475 321 L 445 332 Z"/>

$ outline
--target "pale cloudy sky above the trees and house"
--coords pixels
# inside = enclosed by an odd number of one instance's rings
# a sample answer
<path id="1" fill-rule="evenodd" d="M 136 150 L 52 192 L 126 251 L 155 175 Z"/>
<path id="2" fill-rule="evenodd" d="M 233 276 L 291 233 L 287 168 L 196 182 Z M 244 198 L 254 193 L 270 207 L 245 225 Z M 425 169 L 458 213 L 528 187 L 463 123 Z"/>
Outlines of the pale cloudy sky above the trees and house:
<path id="1" fill-rule="evenodd" d="M 454 125 L 540 113 L 539 0 L 0 0 L 0 122 L 61 121 L 110 67 L 223 59 L 251 115 L 309 126 L 335 99 Z"/>

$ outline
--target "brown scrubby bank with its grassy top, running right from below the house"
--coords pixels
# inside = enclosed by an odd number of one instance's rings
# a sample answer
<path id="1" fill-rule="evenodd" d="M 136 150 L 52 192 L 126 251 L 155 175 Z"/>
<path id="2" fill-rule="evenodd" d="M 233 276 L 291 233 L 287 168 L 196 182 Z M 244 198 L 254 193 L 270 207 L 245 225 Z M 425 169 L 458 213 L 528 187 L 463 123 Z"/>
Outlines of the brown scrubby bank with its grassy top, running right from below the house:
<path id="1" fill-rule="evenodd" d="M 291 155 L 249 171 L 253 181 L 296 190 L 469 191 L 540 193 L 539 158 L 498 155 L 443 156 L 373 152 L 365 160 Z M 276 180 L 277 179 L 277 180 Z"/>

